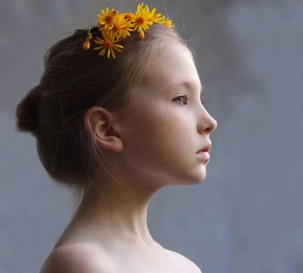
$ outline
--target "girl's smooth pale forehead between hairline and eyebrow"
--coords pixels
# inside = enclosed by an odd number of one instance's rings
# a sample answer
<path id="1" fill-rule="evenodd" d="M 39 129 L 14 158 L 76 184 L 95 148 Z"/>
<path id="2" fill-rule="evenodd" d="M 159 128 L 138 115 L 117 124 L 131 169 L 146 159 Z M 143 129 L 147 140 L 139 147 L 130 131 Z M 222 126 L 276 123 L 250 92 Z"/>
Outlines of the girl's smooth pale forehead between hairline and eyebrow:
<path id="1" fill-rule="evenodd" d="M 200 79 L 190 51 L 183 44 L 165 42 L 147 65 L 144 85 L 164 90 L 173 86 L 200 86 Z"/>

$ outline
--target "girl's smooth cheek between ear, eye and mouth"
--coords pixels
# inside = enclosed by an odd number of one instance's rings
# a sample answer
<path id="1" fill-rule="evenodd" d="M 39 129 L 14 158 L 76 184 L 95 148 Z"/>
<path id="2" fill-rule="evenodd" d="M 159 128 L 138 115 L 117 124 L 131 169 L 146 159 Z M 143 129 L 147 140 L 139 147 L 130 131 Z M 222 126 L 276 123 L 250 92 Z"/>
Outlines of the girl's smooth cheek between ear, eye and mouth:
<path id="1" fill-rule="evenodd" d="M 161 109 L 145 111 L 132 118 L 128 143 L 136 157 L 134 160 L 150 164 L 154 164 L 153 161 L 181 163 L 192 150 L 193 128 L 188 118 Z"/>

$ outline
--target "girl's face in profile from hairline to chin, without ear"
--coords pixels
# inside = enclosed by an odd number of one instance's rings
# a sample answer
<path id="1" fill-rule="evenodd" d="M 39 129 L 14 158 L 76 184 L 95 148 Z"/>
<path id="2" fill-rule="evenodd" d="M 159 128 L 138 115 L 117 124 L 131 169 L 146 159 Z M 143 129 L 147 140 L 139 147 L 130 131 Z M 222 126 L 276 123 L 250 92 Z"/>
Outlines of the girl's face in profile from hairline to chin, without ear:
<path id="1" fill-rule="evenodd" d="M 124 124 L 124 149 L 118 156 L 124 172 L 120 181 L 132 179 L 161 188 L 204 180 L 209 160 L 196 152 L 211 142 L 210 132 L 217 122 L 201 103 L 200 92 L 189 50 L 167 42 L 134 90 L 133 107 L 120 117 Z"/>

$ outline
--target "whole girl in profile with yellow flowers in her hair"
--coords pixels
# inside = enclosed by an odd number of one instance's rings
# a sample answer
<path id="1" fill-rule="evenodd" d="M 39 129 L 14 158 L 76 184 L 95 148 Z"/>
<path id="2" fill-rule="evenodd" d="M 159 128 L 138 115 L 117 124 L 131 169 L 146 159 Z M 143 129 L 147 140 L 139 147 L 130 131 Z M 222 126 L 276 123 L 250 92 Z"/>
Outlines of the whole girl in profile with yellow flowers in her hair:
<path id="1" fill-rule="evenodd" d="M 49 176 L 81 196 L 40 273 L 201 272 L 147 228 L 160 188 L 205 179 L 217 126 L 186 41 L 160 16 L 143 3 L 135 14 L 103 10 L 96 27 L 48 50 L 17 106 Z"/>

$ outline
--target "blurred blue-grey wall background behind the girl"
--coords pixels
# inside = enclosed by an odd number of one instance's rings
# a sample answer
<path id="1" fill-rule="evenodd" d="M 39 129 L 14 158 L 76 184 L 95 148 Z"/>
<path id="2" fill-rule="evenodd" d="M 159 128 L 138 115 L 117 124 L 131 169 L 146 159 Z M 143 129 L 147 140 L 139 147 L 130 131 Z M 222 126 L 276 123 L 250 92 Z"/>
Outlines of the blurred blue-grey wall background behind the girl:
<path id="1" fill-rule="evenodd" d="M 137 1 L 2 0 L 0 12 L 0 272 L 32 273 L 75 208 L 49 180 L 17 102 L 42 57 L 107 6 Z M 144 2 L 145 4 L 145 2 Z M 148 207 L 156 241 L 203 273 L 303 272 L 303 1 L 148 1 L 194 37 L 207 110 L 217 119 L 206 180 L 161 189 Z"/>

